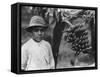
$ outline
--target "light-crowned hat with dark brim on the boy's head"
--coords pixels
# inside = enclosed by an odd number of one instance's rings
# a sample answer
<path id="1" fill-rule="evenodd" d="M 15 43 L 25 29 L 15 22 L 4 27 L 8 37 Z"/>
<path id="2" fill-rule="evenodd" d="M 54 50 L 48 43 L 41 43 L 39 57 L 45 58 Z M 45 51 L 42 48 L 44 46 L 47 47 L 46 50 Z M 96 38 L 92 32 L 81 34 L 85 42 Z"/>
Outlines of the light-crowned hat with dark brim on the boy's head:
<path id="1" fill-rule="evenodd" d="M 46 29 L 48 26 L 41 16 L 33 16 L 30 20 L 29 26 L 25 28 L 25 30 L 31 32 L 35 27 L 43 27 Z"/>

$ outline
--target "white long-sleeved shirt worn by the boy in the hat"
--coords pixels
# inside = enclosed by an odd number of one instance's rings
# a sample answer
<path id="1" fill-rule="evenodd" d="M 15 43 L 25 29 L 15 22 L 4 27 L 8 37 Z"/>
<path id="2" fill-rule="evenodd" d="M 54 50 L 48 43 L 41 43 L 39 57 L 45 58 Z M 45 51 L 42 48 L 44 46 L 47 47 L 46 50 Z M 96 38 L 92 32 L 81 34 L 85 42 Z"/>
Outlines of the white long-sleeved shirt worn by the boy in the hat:
<path id="1" fill-rule="evenodd" d="M 51 46 L 45 40 L 36 42 L 30 39 L 21 49 L 21 68 L 23 70 L 54 69 Z"/>

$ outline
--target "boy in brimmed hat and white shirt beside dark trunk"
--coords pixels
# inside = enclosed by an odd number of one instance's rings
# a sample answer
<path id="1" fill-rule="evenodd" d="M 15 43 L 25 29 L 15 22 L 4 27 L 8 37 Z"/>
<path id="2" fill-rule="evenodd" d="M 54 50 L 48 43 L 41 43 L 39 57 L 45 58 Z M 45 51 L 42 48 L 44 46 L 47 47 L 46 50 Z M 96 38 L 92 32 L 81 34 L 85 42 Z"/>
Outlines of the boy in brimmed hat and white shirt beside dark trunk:
<path id="1" fill-rule="evenodd" d="M 43 40 L 46 22 L 40 16 L 33 16 L 25 30 L 32 33 L 32 38 L 21 48 L 22 70 L 54 69 L 54 58 L 50 44 Z"/>

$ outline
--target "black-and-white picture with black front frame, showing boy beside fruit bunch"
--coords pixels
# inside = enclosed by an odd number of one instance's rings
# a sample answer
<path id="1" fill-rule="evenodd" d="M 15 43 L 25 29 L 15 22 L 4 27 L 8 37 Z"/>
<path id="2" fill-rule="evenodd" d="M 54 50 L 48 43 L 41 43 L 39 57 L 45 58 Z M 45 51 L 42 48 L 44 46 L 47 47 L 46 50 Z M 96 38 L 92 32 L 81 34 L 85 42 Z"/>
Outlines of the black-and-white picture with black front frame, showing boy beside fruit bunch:
<path id="1" fill-rule="evenodd" d="M 97 8 L 20 6 L 21 71 L 97 67 Z"/>

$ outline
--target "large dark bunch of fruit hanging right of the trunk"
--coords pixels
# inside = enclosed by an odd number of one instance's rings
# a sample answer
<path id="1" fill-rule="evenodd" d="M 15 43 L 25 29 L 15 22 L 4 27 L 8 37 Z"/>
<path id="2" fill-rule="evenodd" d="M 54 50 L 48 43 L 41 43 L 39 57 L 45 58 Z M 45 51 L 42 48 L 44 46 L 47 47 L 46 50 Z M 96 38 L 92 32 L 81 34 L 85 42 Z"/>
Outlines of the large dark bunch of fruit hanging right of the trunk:
<path id="1" fill-rule="evenodd" d="M 83 28 L 83 25 L 78 25 L 70 28 L 66 31 L 67 36 L 65 40 L 71 43 L 71 49 L 76 51 L 75 55 L 79 55 L 80 52 L 88 53 L 91 50 L 88 40 L 88 32 Z"/>

